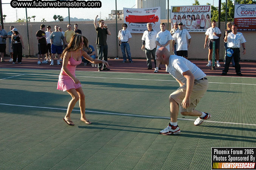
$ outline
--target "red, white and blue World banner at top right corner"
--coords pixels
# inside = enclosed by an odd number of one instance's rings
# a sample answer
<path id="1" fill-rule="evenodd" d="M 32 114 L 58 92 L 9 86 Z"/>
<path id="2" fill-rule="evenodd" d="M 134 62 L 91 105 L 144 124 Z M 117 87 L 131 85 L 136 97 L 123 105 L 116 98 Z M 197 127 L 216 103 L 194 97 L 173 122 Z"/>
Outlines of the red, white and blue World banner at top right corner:
<path id="1" fill-rule="evenodd" d="M 256 31 L 256 4 L 235 4 L 234 8 L 237 31 Z"/>

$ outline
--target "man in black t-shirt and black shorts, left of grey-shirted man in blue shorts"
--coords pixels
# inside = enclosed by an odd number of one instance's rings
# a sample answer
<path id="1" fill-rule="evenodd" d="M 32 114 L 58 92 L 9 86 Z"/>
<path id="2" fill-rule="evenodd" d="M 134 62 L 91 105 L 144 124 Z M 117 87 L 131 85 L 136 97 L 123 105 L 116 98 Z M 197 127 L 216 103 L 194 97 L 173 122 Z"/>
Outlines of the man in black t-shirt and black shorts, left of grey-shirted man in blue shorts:
<path id="1" fill-rule="evenodd" d="M 38 40 L 38 61 L 37 64 L 41 64 L 40 62 L 40 56 L 42 57 L 42 63 L 48 63 L 45 61 L 45 54 L 47 49 L 47 41 L 46 41 L 46 35 L 45 35 L 45 25 L 40 25 L 40 30 L 36 32 L 36 39 Z"/>

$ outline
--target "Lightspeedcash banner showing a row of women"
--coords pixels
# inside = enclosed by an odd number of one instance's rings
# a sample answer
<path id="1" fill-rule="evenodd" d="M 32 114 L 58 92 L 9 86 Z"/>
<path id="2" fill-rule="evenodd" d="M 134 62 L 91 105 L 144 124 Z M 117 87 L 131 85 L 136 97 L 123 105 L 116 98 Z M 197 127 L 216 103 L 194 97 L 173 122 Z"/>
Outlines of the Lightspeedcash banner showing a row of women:
<path id="1" fill-rule="evenodd" d="M 189 32 L 206 32 L 211 27 L 211 6 L 172 6 L 171 28 L 175 23 L 180 22 Z"/>

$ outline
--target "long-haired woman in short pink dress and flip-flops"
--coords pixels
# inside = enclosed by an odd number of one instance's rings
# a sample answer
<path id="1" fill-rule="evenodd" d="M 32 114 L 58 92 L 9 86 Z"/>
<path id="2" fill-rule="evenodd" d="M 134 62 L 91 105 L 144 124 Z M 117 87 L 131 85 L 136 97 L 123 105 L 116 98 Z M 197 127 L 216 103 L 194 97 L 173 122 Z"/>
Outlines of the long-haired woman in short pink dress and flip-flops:
<path id="1" fill-rule="evenodd" d="M 96 60 L 92 57 L 88 56 L 85 51 L 82 51 L 84 45 L 87 44 L 87 39 L 81 34 L 74 34 L 68 44 L 67 48 L 61 54 L 61 58 L 63 59 L 61 73 L 59 74 L 59 80 L 57 89 L 62 91 L 67 91 L 68 94 L 72 97 L 68 104 L 67 114 L 63 118 L 63 120 L 68 125 L 74 125 L 71 121 L 71 111 L 74 108 L 74 105 L 79 100 L 79 107 L 81 112 L 81 121 L 85 124 L 91 124 L 88 119 L 85 117 L 85 96 L 82 90 L 81 82 L 76 78 L 75 71 L 76 66 L 81 64 L 82 58 L 84 56 L 85 59 L 89 60 L 94 64 L 103 63 L 109 66 L 108 62 L 105 60 Z"/>

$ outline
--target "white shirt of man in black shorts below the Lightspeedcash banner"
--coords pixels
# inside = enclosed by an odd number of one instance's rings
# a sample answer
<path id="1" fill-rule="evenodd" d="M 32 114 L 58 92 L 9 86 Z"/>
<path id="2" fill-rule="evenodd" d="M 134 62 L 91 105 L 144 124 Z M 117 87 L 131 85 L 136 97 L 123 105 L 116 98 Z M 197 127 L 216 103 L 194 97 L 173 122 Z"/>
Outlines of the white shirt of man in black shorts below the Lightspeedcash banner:
<path id="1" fill-rule="evenodd" d="M 186 29 L 177 30 L 172 38 L 177 43 L 176 51 L 188 50 L 188 39 L 191 39 L 191 36 Z"/>

